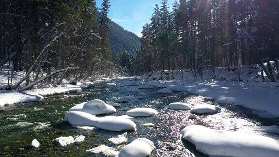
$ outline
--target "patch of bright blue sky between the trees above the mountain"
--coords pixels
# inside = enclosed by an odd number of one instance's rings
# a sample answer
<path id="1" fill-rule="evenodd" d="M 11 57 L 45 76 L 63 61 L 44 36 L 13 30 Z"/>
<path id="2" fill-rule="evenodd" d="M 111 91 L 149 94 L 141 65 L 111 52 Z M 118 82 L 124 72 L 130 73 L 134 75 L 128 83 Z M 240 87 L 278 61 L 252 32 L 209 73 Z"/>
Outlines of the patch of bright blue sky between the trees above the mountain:
<path id="1" fill-rule="evenodd" d="M 100 8 L 103 0 L 96 0 L 96 2 L 97 7 Z M 170 6 L 173 2 L 174 0 L 169 0 Z M 150 22 L 155 4 L 160 3 L 161 0 L 110 0 L 109 18 L 124 29 L 140 36 L 142 26 Z"/>

